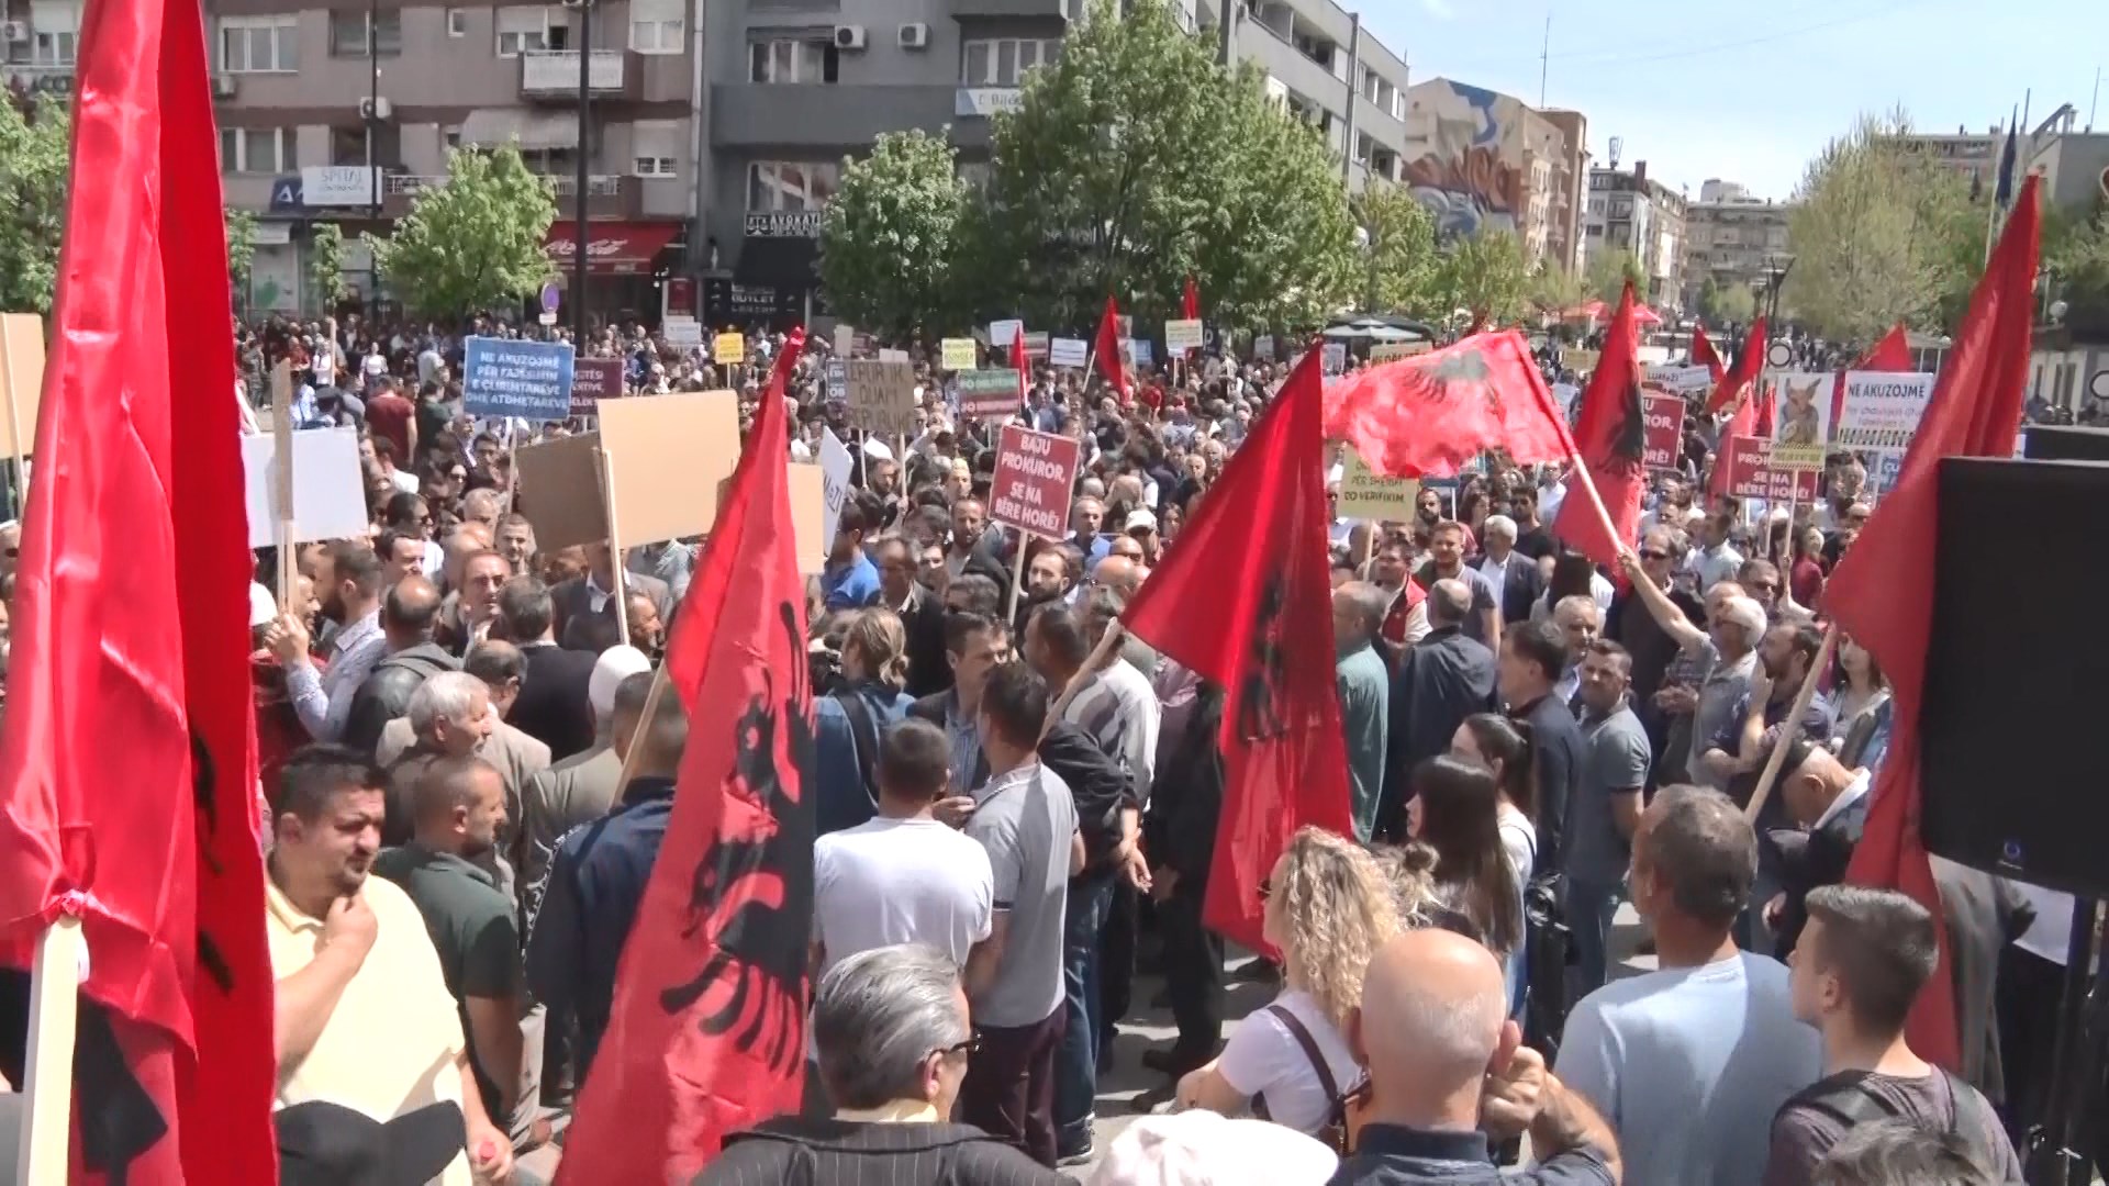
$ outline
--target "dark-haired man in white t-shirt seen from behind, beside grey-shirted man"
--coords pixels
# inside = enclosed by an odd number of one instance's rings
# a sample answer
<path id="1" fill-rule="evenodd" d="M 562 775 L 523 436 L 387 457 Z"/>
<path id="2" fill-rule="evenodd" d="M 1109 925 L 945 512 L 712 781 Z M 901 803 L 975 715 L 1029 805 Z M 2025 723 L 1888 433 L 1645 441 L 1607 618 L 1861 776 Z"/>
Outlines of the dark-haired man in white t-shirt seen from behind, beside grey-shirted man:
<path id="1" fill-rule="evenodd" d="M 966 967 L 989 937 L 989 853 L 932 815 L 951 785 L 951 741 L 930 722 L 886 728 L 873 764 L 879 815 L 814 842 L 814 973 L 856 952 L 922 943 Z"/>

